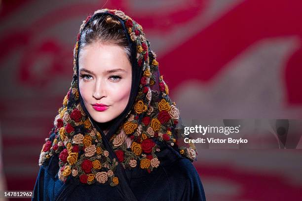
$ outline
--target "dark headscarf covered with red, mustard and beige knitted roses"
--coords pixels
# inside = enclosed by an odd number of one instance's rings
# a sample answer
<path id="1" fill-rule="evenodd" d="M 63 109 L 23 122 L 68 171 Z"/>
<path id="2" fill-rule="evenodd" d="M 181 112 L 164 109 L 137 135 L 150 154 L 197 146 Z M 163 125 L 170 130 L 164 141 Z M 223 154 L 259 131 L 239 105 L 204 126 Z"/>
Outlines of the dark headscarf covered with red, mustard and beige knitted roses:
<path id="1" fill-rule="evenodd" d="M 132 64 L 129 102 L 106 135 L 87 112 L 78 87 L 81 34 L 89 23 L 105 15 L 120 21 L 131 49 Z M 139 167 L 150 173 L 160 166 L 157 155 L 163 145 L 193 162 L 197 154 L 195 147 L 184 143 L 179 109 L 168 94 L 168 86 L 159 73 L 156 55 L 150 49 L 142 26 L 119 10 L 95 11 L 80 26 L 71 88 L 55 117 L 49 137 L 45 139 L 39 166 L 57 155 L 61 181 L 74 177 L 85 184 L 98 182 L 116 186 L 120 182 L 118 167 Z M 125 144 L 124 135 L 120 134 L 121 129 L 133 140 L 130 148 Z"/>

